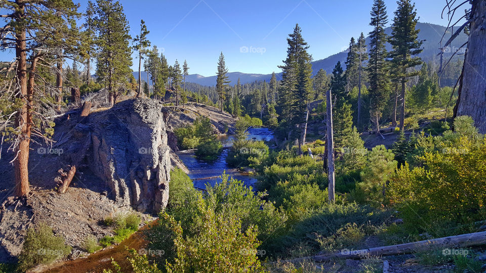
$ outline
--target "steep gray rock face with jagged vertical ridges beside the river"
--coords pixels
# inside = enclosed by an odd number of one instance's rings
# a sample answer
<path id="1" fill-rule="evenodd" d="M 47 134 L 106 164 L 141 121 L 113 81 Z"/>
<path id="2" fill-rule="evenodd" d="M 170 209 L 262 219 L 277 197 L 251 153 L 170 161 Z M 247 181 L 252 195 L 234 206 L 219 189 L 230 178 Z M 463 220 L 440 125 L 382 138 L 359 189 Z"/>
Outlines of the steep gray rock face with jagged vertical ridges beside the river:
<path id="1" fill-rule="evenodd" d="M 89 115 L 90 169 L 120 206 L 158 212 L 169 199 L 171 160 L 161 102 L 132 99 Z"/>

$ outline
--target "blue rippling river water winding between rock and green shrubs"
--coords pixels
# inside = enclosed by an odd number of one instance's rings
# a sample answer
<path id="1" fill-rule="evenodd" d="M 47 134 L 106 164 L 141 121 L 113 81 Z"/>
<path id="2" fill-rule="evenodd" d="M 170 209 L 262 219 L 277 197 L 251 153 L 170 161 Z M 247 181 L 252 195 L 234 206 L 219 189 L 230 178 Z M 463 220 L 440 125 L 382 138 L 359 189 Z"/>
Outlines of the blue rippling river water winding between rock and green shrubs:
<path id="1" fill-rule="evenodd" d="M 219 183 L 219 181 L 221 181 L 219 176 L 223 173 L 223 171 L 226 171 L 226 174 L 229 176 L 243 181 L 246 186 L 254 186 L 257 181 L 254 176 L 250 175 L 248 172 L 230 167 L 226 163 L 226 157 L 228 156 L 229 148 L 233 145 L 234 139 L 234 135 L 225 135 L 220 137 L 219 140 L 223 145 L 223 151 L 216 160 L 211 162 L 197 159 L 193 152 L 180 151 L 177 153 L 179 158 L 186 165 L 187 169 L 189 169 L 189 177 L 192 179 L 195 188 L 204 190 L 206 189 L 207 183 L 212 186 Z M 273 139 L 273 132 L 264 127 L 249 128 L 248 139 L 254 139 L 256 141 L 271 141 Z"/>

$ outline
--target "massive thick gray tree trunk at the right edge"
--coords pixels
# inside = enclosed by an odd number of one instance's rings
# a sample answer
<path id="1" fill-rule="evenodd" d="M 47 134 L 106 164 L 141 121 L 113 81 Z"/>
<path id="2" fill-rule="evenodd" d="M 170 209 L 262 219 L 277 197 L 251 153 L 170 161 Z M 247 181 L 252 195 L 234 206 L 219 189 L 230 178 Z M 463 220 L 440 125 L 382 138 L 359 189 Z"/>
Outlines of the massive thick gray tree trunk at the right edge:
<path id="1" fill-rule="evenodd" d="M 486 133 L 486 0 L 472 1 L 467 54 L 454 117 L 468 115 L 479 132 Z"/>

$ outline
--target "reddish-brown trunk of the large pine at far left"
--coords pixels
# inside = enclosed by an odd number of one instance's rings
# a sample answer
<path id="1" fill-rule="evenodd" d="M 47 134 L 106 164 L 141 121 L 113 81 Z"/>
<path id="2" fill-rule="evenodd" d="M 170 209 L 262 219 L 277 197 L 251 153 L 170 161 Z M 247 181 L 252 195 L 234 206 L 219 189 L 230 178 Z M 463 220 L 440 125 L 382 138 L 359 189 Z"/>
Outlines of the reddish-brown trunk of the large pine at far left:
<path id="1" fill-rule="evenodd" d="M 19 7 L 22 12 L 19 12 L 20 19 L 24 19 L 24 7 Z M 20 20 L 19 19 L 19 20 Z M 16 159 L 14 160 L 15 168 L 15 195 L 27 196 L 29 193 L 29 170 L 27 164 L 29 162 L 29 146 L 30 146 L 30 126 L 31 126 L 31 98 L 27 93 L 27 54 L 26 54 L 26 35 L 25 29 L 21 29 L 15 35 L 15 53 L 17 57 L 17 80 L 20 92 L 17 98 L 22 101 L 22 107 L 19 109 L 15 126 L 20 127 L 19 144 L 14 148 Z"/>

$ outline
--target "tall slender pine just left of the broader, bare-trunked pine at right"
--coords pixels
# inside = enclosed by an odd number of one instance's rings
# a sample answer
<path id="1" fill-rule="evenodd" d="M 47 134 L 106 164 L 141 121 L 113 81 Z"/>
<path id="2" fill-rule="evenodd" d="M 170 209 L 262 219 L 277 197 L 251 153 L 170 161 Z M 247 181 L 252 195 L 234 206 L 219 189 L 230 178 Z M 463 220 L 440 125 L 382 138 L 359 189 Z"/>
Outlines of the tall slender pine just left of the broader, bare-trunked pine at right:
<path id="1" fill-rule="evenodd" d="M 373 119 L 375 131 L 380 131 L 380 117 L 388 94 L 387 51 L 385 44 L 387 35 L 385 25 L 388 23 L 386 7 L 383 0 L 374 0 L 371 11 L 373 30 L 370 32 L 370 61 L 368 74 L 370 83 L 370 116 Z"/>

